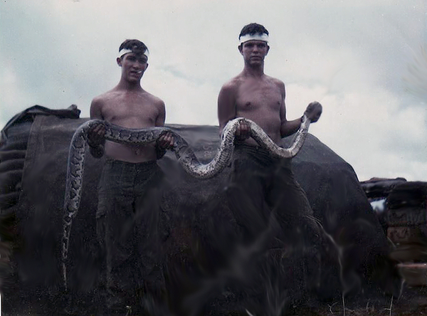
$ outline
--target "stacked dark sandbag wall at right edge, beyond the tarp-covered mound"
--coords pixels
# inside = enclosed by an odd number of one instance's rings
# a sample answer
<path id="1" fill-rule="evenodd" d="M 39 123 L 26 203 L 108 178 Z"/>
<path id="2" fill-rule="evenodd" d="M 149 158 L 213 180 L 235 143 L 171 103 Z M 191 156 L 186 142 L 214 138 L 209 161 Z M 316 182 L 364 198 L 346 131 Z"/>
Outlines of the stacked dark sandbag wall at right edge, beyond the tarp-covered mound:
<path id="1" fill-rule="evenodd" d="M 406 283 L 427 285 L 427 182 L 372 178 L 361 184 Z"/>

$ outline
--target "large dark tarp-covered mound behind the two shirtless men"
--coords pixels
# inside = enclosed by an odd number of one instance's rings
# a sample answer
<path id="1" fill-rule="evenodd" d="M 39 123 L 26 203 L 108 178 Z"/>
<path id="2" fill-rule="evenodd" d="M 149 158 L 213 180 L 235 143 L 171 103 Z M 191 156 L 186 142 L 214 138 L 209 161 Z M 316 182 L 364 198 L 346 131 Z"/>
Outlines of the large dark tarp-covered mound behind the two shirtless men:
<path id="1" fill-rule="evenodd" d="M 64 309 L 70 315 L 102 315 L 102 253 L 95 229 L 102 160 L 86 157 L 83 197 L 71 233 L 70 290 L 63 293 L 59 245 L 68 145 L 87 119 L 78 119 L 75 107 L 57 111 L 32 107 L 2 131 L 3 315 L 66 315 Z M 203 162 L 212 159 L 218 127 L 169 127 Z M 425 309 L 416 303 L 418 292 L 404 288 L 400 295 L 387 228 L 354 170 L 312 135 L 292 160 L 292 170 L 322 228 L 321 243 L 298 227 L 278 231 L 274 214 L 255 239 L 242 239 L 243 228 L 257 231 L 260 218 L 248 199 L 232 195 L 241 214 L 248 214 L 245 227 L 236 221 L 236 210 L 224 199 L 229 169 L 201 181 L 186 175 L 172 153 L 159 164 L 169 179 L 154 244 L 162 254 L 157 273 L 164 286 L 150 292 L 152 285 L 142 280 L 139 299 L 147 315 L 343 315 L 342 297 L 345 315 L 389 315 L 390 305 Z M 409 299 L 413 305 L 405 305 Z M 369 314 L 373 308 L 377 314 Z M 365 314 L 354 313 L 362 310 Z"/>

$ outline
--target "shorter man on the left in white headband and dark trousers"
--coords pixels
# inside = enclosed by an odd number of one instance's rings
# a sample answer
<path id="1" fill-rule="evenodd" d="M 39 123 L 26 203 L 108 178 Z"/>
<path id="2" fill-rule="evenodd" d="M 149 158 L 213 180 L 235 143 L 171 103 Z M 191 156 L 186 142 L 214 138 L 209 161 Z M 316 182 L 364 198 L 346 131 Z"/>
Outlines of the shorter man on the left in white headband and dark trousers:
<path id="1" fill-rule="evenodd" d="M 147 60 L 147 46 L 141 41 L 126 40 L 120 45 L 120 82 L 93 99 L 91 119 L 136 129 L 164 125 L 164 102 L 140 84 Z M 132 306 L 135 312 L 140 307 L 139 294 L 151 286 L 147 284 L 149 275 L 157 263 L 158 243 L 154 238 L 163 174 L 156 159 L 173 146 L 174 139 L 168 133 L 156 144 L 131 146 L 105 142 L 104 135 L 105 127 L 97 125 L 88 133 L 88 143 L 94 157 L 103 152 L 107 157 L 96 214 L 97 233 L 106 254 L 107 306 L 110 312 L 125 313 L 126 306 Z"/>

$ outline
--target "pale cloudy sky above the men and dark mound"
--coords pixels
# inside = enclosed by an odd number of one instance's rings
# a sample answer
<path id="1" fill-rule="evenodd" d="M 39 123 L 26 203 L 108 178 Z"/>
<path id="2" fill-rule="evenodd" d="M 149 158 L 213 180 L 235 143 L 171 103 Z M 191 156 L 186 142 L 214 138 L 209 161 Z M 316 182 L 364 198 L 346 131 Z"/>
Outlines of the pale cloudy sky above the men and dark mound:
<path id="1" fill-rule="evenodd" d="M 218 125 L 221 85 L 243 69 L 238 33 L 257 22 L 288 120 L 317 100 L 310 133 L 360 181 L 427 181 L 426 13 L 427 0 L 1 0 L 0 128 L 32 105 L 88 117 L 127 38 L 149 48 L 142 86 L 167 124 Z"/>

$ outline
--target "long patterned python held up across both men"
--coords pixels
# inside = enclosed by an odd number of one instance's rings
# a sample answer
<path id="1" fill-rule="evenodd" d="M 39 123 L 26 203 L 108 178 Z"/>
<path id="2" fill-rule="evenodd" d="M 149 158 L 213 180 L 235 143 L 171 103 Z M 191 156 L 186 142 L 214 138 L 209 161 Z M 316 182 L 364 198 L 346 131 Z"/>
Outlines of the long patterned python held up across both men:
<path id="1" fill-rule="evenodd" d="M 174 146 L 172 151 L 176 158 L 181 163 L 181 166 L 186 172 L 200 179 L 208 179 L 214 177 L 221 172 L 231 160 L 234 148 L 234 139 L 238 126 L 241 122 L 247 122 L 251 129 L 251 137 L 258 144 L 267 149 L 273 157 L 292 158 L 300 151 L 307 136 L 308 127 L 310 127 L 310 119 L 306 115 L 302 117 L 302 124 L 297 131 L 292 144 L 289 148 L 279 147 L 261 127 L 255 122 L 238 117 L 228 122 L 224 127 L 221 142 L 218 152 L 214 159 L 208 164 L 202 164 L 197 159 L 189 144 L 181 136 L 173 132 L 167 127 L 151 127 L 147 129 L 135 130 L 126 129 L 117 125 L 112 125 L 102 120 L 90 120 L 80 125 L 75 131 L 70 143 L 70 151 L 68 154 L 68 170 L 67 182 L 65 186 L 65 201 L 63 206 L 63 237 L 62 237 L 62 276 L 65 289 L 67 288 L 67 258 L 68 244 L 70 241 L 70 231 L 73 218 L 76 216 L 80 204 L 81 189 L 83 184 L 83 169 L 85 162 L 85 152 L 88 140 L 88 130 L 93 125 L 102 124 L 105 126 L 105 139 L 121 144 L 147 144 L 155 142 L 160 135 L 166 132 L 172 132 L 174 137 Z"/>

